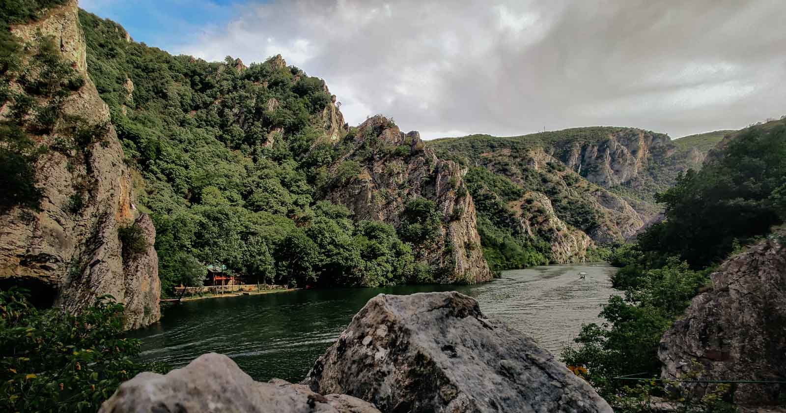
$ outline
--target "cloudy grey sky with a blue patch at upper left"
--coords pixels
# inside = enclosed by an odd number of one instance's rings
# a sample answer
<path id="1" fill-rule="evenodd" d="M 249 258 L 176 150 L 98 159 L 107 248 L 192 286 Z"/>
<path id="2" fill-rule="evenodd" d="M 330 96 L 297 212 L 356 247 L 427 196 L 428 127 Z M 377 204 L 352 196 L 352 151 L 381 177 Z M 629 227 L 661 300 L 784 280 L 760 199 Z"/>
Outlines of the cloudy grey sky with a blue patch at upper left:
<path id="1" fill-rule="evenodd" d="M 632 126 L 683 135 L 786 115 L 783 0 L 82 0 L 209 61 L 281 53 L 350 124 L 424 138 Z"/>

